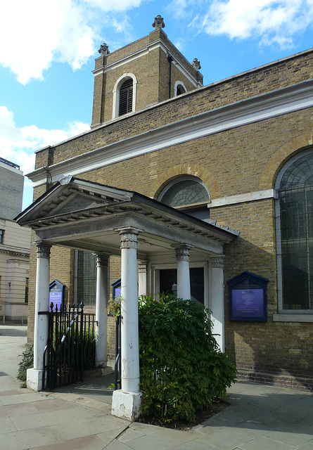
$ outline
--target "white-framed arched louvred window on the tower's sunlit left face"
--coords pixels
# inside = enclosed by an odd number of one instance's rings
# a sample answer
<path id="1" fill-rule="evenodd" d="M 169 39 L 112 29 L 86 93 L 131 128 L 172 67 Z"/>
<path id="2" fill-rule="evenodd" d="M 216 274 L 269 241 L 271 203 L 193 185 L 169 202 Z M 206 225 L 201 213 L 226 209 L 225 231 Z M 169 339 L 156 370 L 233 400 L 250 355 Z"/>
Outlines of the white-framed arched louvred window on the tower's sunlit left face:
<path id="1" fill-rule="evenodd" d="M 132 73 L 124 73 L 113 89 L 113 119 L 136 109 L 137 80 Z"/>

